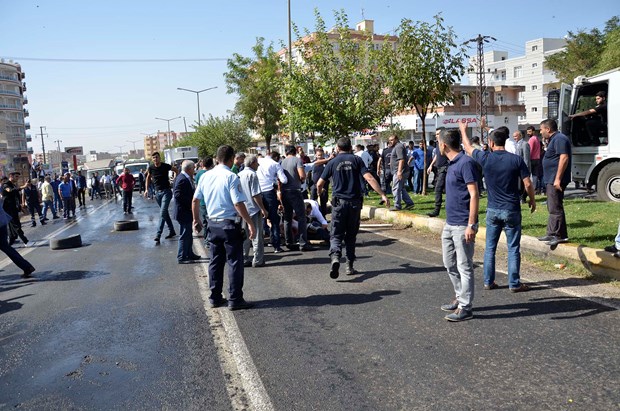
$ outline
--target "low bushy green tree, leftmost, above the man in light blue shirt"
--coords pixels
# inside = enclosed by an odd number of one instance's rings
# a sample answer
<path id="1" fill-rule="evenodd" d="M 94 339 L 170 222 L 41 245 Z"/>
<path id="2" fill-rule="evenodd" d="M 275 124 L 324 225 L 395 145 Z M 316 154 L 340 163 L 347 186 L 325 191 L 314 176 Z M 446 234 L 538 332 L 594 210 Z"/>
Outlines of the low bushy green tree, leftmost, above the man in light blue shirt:
<path id="1" fill-rule="evenodd" d="M 194 133 L 177 141 L 175 147 L 198 147 L 198 154 L 201 157 L 213 157 L 217 153 L 217 148 L 224 144 L 232 146 L 235 151 L 245 151 L 252 144 L 247 126 L 240 116 L 210 115 Z"/>

